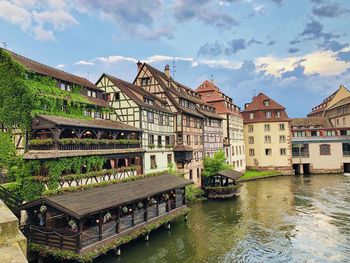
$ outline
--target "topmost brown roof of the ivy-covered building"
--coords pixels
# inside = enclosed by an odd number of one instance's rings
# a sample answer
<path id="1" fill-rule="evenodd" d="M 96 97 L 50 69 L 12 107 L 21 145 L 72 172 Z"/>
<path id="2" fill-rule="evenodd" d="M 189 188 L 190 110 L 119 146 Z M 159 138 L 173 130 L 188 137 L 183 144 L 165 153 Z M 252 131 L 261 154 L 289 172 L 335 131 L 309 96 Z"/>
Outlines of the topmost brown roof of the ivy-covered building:
<path id="1" fill-rule="evenodd" d="M 55 79 L 60 79 L 60 80 L 64 80 L 67 82 L 71 82 L 74 84 L 78 84 L 84 87 L 88 87 L 88 88 L 92 88 L 95 90 L 100 90 L 98 87 L 96 87 L 93 83 L 91 83 L 89 80 L 87 80 L 86 78 L 82 78 L 67 72 L 64 72 L 62 70 L 58 70 L 52 67 L 49 67 L 47 65 L 44 65 L 42 63 L 39 63 L 37 61 L 31 60 L 29 58 L 23 57 L 21 55 L 18 55 L 14 52 L 11 52 L 9 50 L 6 50 L 11 57 L 16 60 L 17 62 L 19 62 L 20 64 L 22 64 L 24 67 L 26 67 L 28 70 L 45 75 L 45 76 L 49 76 L 49 77 L 53 77 Z"/>

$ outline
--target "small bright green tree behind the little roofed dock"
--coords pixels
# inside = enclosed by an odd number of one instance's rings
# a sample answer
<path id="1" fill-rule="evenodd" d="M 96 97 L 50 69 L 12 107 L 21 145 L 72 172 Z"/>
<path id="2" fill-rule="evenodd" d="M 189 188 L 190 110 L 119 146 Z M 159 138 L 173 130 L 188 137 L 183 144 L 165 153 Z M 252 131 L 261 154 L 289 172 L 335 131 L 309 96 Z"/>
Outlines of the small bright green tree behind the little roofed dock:
<path id="1" fill-rule="evenodd" d="M 232 169 L 232 166 L 226 163 L 226 157 L 223 150 L 216 152 L 212 158 L 204 157 L 203 166 L 203 176 L 211 176 L 220 171 Z"/>

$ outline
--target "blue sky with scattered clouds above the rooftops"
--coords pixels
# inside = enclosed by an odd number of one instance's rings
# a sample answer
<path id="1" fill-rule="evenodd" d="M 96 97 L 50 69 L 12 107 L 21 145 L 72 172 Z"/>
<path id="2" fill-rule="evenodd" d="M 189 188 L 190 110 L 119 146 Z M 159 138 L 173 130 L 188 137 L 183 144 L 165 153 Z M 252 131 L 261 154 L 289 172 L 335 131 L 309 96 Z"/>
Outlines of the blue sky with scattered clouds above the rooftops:
<path id="1" fill-rule="evenodd" d="M 243 108 L 259 92 L 303 117 L 350 86 L 348 0 L 0 0 L 6 48 L 95 82 L 138 60 Z M 0 46 L 4 46 L 0 43 Z"/>

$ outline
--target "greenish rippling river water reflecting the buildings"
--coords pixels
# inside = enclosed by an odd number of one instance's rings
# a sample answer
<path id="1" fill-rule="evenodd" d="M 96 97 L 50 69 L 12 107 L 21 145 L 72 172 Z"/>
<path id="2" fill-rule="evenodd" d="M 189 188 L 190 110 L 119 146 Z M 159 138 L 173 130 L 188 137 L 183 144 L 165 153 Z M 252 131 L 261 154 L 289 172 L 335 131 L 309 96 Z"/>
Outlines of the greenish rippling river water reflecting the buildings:
<path id="1" fill-rule="evenodd" d="M 234 200 L 190 207 L 187 222 L 96 262 L 350 262 L 350 177 L 250 181 Z"/>

